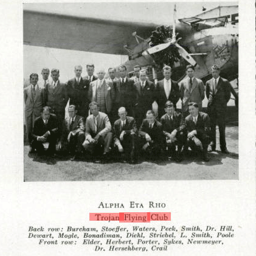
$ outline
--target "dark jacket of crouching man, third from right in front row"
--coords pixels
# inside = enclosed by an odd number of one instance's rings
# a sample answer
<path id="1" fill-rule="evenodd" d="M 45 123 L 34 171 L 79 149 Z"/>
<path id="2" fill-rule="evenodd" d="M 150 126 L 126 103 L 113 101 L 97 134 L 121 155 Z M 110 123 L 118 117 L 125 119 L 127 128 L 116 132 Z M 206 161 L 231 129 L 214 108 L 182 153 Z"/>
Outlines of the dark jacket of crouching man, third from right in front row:
<path id="1" fill-rule="evenodd" d="M 154 121 L 153 128 L 150 129 L 149 123 L 147 119 L 144 119 L 142 125 L 139 129 L 139 135 L 145 137 L 146 133 L 151 137 L 151 139 L 158 143 L 164 143 L 164 133 L 163 133 L 163 126 L 162 123 L 158 122 L 157 120 Z"/>

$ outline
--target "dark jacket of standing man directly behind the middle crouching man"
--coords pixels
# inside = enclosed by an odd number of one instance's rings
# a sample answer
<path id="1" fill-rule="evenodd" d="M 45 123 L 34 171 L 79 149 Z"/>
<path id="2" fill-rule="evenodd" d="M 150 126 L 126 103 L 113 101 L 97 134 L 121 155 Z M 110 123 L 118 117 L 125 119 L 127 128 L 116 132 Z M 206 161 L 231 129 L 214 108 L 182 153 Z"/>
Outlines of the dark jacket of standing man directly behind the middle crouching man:
<path id="1" fill-rule="evenodd" d="M 120 78 L 116 81 L 116 102 L 122 106 L 134 106 L 136 103 L 136 88 L 134 81 L 126 77 L 126 81 L 121 85 Z"/>

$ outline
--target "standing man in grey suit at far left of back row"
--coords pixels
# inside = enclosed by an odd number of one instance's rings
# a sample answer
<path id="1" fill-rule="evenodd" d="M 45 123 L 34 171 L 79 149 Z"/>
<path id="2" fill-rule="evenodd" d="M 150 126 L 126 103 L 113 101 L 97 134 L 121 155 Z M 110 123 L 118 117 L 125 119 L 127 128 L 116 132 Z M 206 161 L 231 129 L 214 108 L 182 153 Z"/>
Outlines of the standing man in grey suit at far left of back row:
<path id="1" fill-rule="evenodd" d="M 37 82 L 38 74 L 32 73 L 30 75 L 30 85 L 24 88 L 26 133 L 30 144 L 30 153 L 34 152 L 32 147 L 33 123 L 36 117 L 40 116 L 44 102 L 44 89 L 40 88 Z"/>

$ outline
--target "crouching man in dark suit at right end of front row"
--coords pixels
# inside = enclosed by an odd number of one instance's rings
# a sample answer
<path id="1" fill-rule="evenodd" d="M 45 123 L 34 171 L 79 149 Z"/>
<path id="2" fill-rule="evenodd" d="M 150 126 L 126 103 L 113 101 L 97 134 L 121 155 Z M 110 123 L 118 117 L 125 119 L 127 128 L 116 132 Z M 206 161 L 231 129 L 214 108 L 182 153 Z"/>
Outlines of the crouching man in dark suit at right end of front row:
<path id="1" fill-rule="evenodd" d="M 187 128 L 187 144 L 192 151 L 201 151 L 202 159 L 209 162 L 207 147 L 209 138 L 209 116 L 204 112 L 199 112 L 198 103 L 189 103 L 190 115 L 185 118 Z"/>

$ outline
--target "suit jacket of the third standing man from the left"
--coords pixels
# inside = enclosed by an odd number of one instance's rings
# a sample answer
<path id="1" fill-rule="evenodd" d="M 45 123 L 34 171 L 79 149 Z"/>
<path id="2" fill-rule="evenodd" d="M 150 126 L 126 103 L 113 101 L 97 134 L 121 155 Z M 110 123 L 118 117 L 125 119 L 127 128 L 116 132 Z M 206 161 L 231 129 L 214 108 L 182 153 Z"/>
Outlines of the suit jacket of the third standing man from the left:
<path id="1" fill-rule="evenodd" d="M 51 83 L 47 83 L 45 94 L 46 106 L 50 106 L 51 108 L 55 108 L 60 111 L 66 107 L 68 100 L 66 85 L 64 83 L 60 83 L 60 80 L 58 80 L 55 88 L 53 86 L 53 81 Z"/>

